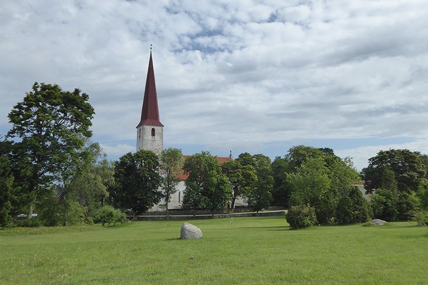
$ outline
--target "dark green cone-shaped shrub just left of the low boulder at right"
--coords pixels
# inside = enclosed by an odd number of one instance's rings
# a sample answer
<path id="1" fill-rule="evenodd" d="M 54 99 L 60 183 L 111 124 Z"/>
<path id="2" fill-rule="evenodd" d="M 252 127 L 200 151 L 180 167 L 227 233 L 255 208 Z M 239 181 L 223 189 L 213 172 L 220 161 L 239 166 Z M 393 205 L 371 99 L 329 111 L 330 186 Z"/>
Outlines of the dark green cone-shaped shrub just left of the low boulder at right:
<path id="1" fill-rule="evenodd" d="M 367 222 L 372 216 L 371 208 L 358 188 L 353 188 L 348 196 L 341 197 L 337 204 L 337 222 L 355 224 Z"/>

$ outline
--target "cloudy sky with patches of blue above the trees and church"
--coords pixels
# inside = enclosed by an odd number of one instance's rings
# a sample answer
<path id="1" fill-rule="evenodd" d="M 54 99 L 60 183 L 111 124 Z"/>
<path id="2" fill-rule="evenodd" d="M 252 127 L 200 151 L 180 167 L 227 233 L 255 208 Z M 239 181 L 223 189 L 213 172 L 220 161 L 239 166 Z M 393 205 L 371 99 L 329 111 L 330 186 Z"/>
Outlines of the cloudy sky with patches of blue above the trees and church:
<path id="1" fill-rule="evenodd" d="M 34 82 L 79 87 L 93 141 L 135 150 L 150 44 L 165 147 L 283 156 L 331 147 L 357 169 L 428 153 L 427 0 L 2 0 L 0 134 Z"/>

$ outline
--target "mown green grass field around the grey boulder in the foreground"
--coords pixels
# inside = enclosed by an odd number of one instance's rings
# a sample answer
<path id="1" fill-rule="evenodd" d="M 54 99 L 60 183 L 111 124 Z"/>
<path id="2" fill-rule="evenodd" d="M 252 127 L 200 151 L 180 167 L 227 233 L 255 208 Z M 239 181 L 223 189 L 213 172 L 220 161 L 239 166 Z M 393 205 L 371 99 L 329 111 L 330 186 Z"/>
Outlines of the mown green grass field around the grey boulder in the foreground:
<path id="1" fill-rule="evenodd" d="M 290 230 L 284 217 L 0 231 L 1 284 L 427 284 L 428 230 Z M 193 258 L 190 258 L 193 256 Z"/>

